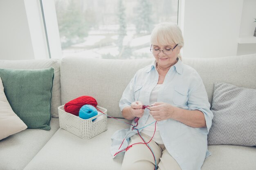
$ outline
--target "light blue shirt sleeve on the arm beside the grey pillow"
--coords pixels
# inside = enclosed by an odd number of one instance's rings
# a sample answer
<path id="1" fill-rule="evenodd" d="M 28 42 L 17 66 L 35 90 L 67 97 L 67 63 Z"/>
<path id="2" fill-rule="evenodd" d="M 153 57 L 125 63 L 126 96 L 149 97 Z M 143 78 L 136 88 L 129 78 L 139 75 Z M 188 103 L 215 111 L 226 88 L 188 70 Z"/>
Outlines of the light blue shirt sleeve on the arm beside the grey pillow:
<path id="1" fill-rule="evenodd" d="M 193 88 L 189 90 L 188 107 L 189 110 L 199 110 L 204 113 L 207 127 L 199 129 L 201 133 L 206 135 L 209 133 L 213 119 L 213 113 L 210 110 L 210 106 L 204 83 L 199 74 L 196 74 L 195 80 L 193 81 Z"/>

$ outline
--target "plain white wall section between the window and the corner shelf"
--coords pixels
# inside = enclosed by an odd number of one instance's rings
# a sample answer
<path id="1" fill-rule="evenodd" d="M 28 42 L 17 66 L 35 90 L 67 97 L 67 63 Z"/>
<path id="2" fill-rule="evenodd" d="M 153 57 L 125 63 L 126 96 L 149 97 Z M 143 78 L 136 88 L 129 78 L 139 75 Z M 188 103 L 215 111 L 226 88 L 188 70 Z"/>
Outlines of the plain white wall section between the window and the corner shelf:
<path id="1" fill-rule="evenodd" d="M 236 55 L 243 0 L 183 1 L 183 57 Z"/>

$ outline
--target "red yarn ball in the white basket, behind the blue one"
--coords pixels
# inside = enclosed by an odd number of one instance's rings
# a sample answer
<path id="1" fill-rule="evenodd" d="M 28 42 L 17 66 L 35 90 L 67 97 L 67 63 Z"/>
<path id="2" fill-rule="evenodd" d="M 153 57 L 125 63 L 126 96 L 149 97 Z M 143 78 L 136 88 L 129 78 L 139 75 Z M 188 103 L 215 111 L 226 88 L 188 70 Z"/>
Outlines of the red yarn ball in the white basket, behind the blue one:
<path id="1" fill-rule="evenodd" d="M 67 102 L 64 106 L 64 110 L 68 113 L 78 116 L 79 110 L 83 105 L 92 105 L 96 107 L 98 103 L 96 99 L 91 96 L 80 96 L 78 98 L 75 98 L 74 100 Z"/>

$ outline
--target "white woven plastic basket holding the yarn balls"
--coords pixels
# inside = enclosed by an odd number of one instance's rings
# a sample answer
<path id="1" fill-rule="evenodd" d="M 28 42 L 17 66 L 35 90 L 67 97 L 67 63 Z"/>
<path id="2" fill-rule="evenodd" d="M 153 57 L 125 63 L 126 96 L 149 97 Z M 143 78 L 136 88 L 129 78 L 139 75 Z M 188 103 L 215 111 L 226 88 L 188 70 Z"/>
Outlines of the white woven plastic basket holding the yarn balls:
<path id="1" fill-rule="evenodd" d="M 98 115 L 90 119 L 82 119 L 64 110 L 64 105 L 58 107 L 60 127 L 83 139 L 90 139 L 107 130 L 107 109 L 97 106 Z M 92 122 L 93 119 L 97 118 Z"/>

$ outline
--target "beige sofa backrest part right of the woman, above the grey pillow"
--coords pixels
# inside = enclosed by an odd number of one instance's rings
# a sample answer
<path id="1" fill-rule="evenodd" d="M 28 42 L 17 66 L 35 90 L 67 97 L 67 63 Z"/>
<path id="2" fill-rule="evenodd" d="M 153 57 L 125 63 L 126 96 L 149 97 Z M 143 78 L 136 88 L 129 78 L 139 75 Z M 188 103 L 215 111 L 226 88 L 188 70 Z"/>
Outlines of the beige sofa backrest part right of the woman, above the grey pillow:
<path id="1" fill-rule="evenodd" d="M 215 81 L 256 89 L 256 54 L 208 59 L 184 58 L 183 63 L 190 65 L 201 76 L 210 104 Z"/>

